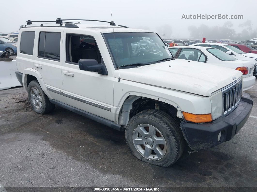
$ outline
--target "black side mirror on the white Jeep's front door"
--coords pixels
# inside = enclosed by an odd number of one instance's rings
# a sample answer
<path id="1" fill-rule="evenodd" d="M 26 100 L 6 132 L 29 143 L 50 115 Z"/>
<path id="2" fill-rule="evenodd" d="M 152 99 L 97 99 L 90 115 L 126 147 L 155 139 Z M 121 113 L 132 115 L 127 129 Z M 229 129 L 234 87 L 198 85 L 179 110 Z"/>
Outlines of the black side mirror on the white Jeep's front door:
<path id="1" fill-rule="evenodd" d="M 79 69 L 97 72 L 101 75 L 108 75 L 105 64 L 98 64 L 97 60 L 95 59 L 79 59 Z"/>

